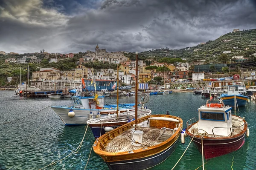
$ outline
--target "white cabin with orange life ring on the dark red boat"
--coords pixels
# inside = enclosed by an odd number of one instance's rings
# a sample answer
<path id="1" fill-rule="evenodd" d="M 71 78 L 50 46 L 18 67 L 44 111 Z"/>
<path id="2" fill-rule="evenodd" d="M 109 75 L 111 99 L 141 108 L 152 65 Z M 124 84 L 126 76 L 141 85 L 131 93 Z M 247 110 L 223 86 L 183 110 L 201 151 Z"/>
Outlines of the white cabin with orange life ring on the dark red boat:
<path id="1" fill-rule="evenodd" d="M 198 109 L 198 133 L 228 136 L 232 127 L 231 109 L 222 100 L 208 100 Z"/>

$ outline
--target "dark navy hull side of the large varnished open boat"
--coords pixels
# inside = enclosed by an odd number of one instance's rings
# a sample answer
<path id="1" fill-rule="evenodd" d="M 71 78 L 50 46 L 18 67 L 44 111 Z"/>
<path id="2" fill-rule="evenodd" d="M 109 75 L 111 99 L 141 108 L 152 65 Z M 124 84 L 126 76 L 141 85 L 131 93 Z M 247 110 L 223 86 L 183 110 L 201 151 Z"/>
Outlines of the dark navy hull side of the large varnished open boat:
<path id="1" fill-rule="evenodd" d="M 179 137 L 176 138 L 176 141 L 169 145 L 165 150 L 153 154 L 151 156 L 145 156 L 143 158 L 125 160 L 125 161 L 114 161 L 106 162 L 110 170 L 141 170 L 154 167 L 163 161 L 165 161 L 177 147 Z M 143 165 L 143 166 L 142 166 Z"/>

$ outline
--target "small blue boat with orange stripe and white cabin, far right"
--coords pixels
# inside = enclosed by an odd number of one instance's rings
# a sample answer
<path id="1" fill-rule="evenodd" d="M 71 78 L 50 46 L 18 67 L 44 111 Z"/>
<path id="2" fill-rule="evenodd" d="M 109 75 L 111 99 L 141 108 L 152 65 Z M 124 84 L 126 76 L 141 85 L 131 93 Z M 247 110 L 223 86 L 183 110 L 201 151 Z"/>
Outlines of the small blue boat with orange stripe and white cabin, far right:
<path id="1" fill-rule="evenodd" d="M 226 106 L 235 106 L 235 101 L 238 107 L 245 106 L 246 102 L 249 102 L 249 98 L 241 93 L 239 86 L 228 86 L 227 94 L 222 94 L 221 99 Z"/>

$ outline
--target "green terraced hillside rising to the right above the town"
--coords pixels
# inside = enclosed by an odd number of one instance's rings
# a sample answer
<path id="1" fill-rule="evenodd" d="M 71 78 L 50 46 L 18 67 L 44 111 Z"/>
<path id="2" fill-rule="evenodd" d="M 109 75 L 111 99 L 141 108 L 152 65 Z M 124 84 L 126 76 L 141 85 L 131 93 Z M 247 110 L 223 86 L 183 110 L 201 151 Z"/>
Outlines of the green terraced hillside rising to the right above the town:
<path id="1" fill-rule="evenodd" d="M 240 37 L 241 33 L 241 37 Z M 230 40 L 224 42 L 224 40 Z M 245 51 L 245 48 L 249 50 Z M 218 55 L 223 51 L 230 50 L 228 57 L 244 55 L 249 57 L 256 52 L 256 29 L 243 30 L 237 32 L 230 32 L 216 40 L 209 40 L 205 44 L 199 44 L 193 47 L 186 47 L 183 49 L 154 49 L 145 52 L 140 52 L 140 59 L 156 57 L 156 59 L 163 57 L 170 58 L 188 58 L 188 61 L 195 60 L 217 60 Z M 131 53 L 127 55 L 133 59 L 134 55 Z M 215 56 L 215 57 L 214 57 Z"/>

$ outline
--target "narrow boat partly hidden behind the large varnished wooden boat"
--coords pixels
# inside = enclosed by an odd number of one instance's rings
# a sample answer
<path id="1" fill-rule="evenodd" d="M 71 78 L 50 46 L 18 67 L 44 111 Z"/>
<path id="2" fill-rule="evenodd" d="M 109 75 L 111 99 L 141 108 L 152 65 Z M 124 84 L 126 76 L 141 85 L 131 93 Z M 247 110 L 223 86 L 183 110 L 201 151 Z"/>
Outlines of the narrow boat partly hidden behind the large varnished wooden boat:
<path id="1" fill-rule="evenodd" d="M 141 118 L 146 115 L 151 115 L 150 109 L 139 109 L 138 110 L 138 117 Z M 105 116 L 103 118 L 95 118 L 90 119 L 86 123 L 89 124 L 90 129 L 93 132 L 95 138 L 104 135 L 106 132 L 113 130 L 117 127 L 120 127 L 131 120 L 135 119 L 135 110 L 122 112 L 118 114 L 118 118 L 116 114 Z"/>

